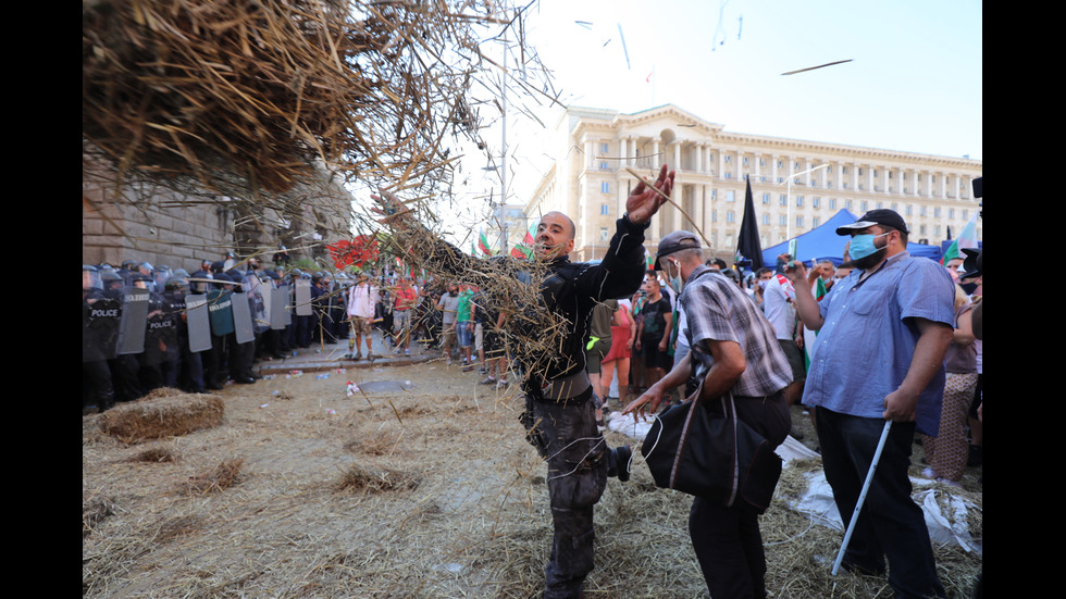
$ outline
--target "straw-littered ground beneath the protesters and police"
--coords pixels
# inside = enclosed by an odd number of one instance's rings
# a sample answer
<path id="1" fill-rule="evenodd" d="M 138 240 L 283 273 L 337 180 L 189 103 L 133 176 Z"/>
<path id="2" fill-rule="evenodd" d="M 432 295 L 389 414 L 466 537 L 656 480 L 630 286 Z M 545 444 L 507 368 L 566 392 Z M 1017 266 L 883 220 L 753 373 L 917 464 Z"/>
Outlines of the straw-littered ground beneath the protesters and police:
<path id="1" fill-rule="evenodd" d="M 220 391 L 220 426 L 129 446 L 84 416 L 83 597 L 537 597 L 544 465 L 516 386 L 481 378 L 439 361 L 277 375 Z M 222 464 L 236 477 L 190 484 Z M 830 576 L 841 534 L 789 508 L 809 467 L 786 469 L 763 520 L 771 597 L 891 595 L 883 577 Z M 979 471 L 967 476 L 979 504 Z M 690 502 L 655 488 L 637 452 L 633 478 L 611 479 L 597 507 L 585 596 L 707 597 Z M 945 546 L 938 560 L 952 597 L 968 597 L 980 557 Z"/>

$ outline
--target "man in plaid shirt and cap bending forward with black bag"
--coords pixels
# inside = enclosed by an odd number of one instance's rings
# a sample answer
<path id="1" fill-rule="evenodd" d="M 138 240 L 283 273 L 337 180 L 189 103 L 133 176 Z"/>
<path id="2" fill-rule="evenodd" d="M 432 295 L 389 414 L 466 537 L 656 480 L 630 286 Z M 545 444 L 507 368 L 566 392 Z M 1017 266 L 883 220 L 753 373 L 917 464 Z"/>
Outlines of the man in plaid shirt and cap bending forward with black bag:
<path id="1" fill-rule="evenodd" d="M 792 427 L 782 392 L 792 382 L 792 369 L 773 327 L 732 279 L 704 264 L 699 238 L 692 233 L 664 237 L 653 269 L 661 270 L 681 292 L 687 316 L 681 334 L 690 351 L 623 413 L 655 412 L 666 390 L 694 375 L 702 383 L 701 409 L 721 411 L 709 400 L 732 394 L 736 417 L 780 445 Z M 742 503 L 726 507 L 697 497 L 692 504 L 689 532 L 711 597 L 766 597 L 758 514 Z"/>

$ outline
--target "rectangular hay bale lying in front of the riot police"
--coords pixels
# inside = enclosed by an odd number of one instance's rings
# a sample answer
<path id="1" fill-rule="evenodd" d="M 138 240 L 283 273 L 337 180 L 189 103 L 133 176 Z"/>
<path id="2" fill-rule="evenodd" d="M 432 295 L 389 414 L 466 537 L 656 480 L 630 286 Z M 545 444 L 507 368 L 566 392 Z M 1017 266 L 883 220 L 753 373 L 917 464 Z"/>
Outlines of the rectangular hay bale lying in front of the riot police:
<path id="1" fill-rule="evenodd" d="M 157 394 L 100 415 L 100 429 L 125 444 L 186 435 L 222 423 L 225 404 L 208 394 Z"/>

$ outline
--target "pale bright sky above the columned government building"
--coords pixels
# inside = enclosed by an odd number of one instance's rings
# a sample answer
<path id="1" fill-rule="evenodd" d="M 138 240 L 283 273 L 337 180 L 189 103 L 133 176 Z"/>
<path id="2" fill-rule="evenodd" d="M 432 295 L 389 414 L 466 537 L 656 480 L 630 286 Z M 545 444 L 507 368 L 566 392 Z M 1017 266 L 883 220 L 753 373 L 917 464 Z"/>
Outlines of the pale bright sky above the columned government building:
<path id="1" fill-rule="evenodd" d="M 974 0 L 540 0 L 523 25 L 565 103 L 673 103 L 730 132 L 981 160 L 982 10 Z M 510 102 L 508 201 L 524 203 L 551 157 L 543 128 L 515 110 L 532 100 Z M 481 116 L 498 157 L 498 114 Z M 499 178 L 468 155 L 455 191 L 472 198 L 478 222 Z"/>

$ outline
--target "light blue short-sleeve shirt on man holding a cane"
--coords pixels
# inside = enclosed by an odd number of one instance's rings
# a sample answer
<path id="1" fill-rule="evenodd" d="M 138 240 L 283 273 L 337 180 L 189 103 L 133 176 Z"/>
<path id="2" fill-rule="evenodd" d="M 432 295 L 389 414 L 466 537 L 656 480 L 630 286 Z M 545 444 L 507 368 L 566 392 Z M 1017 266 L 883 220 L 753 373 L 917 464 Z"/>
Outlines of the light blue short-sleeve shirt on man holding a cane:
<path id="1" fill-rule="evenodd" d="M 860 280 L 852 271 L 821 299 L 825 319 L 816 339 L 803 402 L 834 412 L 881 419 L 884 397 L 910 367 L 918 329 L 910 319 L 954 326 L 955 284 L 939 263 L 908 252 L 889 259 Z M 921 392 L 917 428 L 937 435 L 944 367 Z"/>

